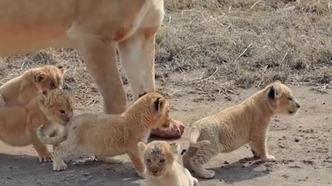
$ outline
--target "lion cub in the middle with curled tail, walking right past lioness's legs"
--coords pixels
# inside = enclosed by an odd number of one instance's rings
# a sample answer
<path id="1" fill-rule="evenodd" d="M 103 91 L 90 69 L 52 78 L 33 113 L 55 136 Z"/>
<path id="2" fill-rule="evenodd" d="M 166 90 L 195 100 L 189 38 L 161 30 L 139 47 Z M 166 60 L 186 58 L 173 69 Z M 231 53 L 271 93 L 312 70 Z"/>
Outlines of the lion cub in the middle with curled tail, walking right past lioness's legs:
<path id="1" fill-rule="evenodd" d="M 55 148 L 53 169 L 67 168 L 63 161 L 70 155 L 88 154 L 111 157 L 128 154 L 139 176 L 144 165 L 138 142 L 147 141 L 151 129 L 169 127 L 169 103 L 162 95 L 151 92 L 140 97 L 122 114 L 82 114 L 69 121 L 63 134 L 48 138 L 40 127 L 37 136 L 46 144 L 61 143 Z"/>

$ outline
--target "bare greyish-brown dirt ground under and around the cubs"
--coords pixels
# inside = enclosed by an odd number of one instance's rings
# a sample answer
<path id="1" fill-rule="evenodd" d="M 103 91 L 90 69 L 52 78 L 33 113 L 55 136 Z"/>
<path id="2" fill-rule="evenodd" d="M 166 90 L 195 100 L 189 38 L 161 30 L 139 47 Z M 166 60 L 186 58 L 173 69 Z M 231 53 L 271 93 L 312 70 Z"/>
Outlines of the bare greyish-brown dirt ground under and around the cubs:
<path id="1" fill-rule="evenodd" d="M 173 87 L 178 90 L 179 87 Z M 199 185 L 331 185 L 332 96 L 313 92 L 312 87 L 292 87 L 302 107 L 296 116 L 276 116 L 268 134 L 268 149 L 277 161 L 252 160 L 248 147 L 219 154 L 207 167 L 216 171 Z M 173 96 L 172 116 L 186 124 L 180 140 L 186 148 L 190 126 L 199 118 L 240 103 L 256 89 L 241 90 L 232 101 L 204 101 L 199 94 Z M 91 110 L 100 110 L 94 105 Z M 82 111 L 81 111 L 82 112 Z M 39 163 L 32 147 L 9 147 L 0 143 L 0 185 L 141 185 L 127 156 L 124 165 L 111 165 L 82 158 L 69 162 L 69 169 L 53 172 L 51 163 Z"/>

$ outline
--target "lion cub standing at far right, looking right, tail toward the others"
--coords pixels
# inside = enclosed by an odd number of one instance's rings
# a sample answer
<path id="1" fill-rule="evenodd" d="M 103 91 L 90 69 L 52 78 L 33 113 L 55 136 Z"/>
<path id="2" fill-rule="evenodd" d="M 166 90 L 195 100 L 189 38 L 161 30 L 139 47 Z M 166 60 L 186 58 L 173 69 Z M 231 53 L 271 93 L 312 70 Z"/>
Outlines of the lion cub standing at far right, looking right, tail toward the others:
<path id="1" fill-rule="evenodd" d="M 293 115 L 299 102 L 291 90 L 279 81 L 250 96 L 239 105 L 202 118 L 190 132 L 190 146 L 183 154 L 183 165 L 201 178 L 213 178 L 214 172 L 203 168 L 205 163 L 221 152 L 232 152 L 249 143 L 255 156 L 273 161 L 268 154 L 266 133 L 275 114 Z"/>

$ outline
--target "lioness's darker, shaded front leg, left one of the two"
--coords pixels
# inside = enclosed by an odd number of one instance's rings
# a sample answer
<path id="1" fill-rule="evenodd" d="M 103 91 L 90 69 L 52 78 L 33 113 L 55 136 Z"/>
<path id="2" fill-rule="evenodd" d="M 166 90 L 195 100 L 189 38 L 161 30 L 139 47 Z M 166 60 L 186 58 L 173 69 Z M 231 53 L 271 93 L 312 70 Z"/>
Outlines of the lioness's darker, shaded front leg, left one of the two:
<path id="1" fill-rule="evenodd" d="M 104 99 L 104 112 L 120 114 L 126 110 L 127 94 L 124 92 L 116 63 L 116 42 L 103 43 L 97 37 L 86 37 L 79 45 L 89 74 Z"/>

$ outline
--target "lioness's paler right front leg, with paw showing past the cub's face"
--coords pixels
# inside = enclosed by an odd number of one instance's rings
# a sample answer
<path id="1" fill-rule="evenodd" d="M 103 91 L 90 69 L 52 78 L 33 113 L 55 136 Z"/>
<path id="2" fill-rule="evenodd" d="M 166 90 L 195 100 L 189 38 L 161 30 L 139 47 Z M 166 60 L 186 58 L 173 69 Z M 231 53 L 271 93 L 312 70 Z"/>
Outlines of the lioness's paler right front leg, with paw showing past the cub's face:
<path id="1" fill-rule="evenodd" d="M 144 32 L 133 34 L 119 43 L 120 59 L 133 91 L 133 99 L 140 95 L 154 92 L 154 44 L 155 34 Z M 162 138 L 180 138 L 184 125 L 180 121 L 171 120 L 169 129 L 152 130 L 151 134 Z"/>

